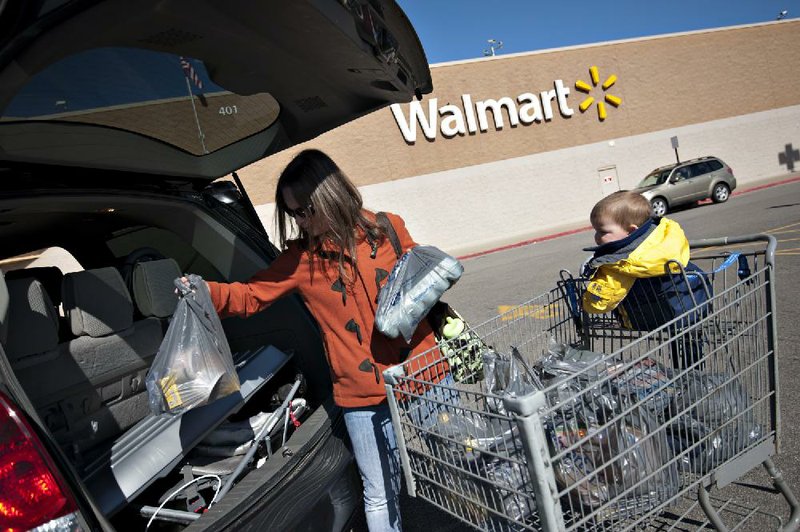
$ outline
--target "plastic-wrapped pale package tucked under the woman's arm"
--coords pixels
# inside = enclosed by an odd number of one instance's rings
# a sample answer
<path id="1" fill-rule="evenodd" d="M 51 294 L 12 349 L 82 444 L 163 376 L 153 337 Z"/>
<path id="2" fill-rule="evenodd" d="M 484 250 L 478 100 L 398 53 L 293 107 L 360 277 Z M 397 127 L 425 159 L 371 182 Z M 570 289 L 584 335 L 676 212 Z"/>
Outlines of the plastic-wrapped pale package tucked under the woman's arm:
<path id="1" fill-rule="evenodd" d="M 464 272 L 457 259 L 433 246 L 403 254 L 378 294 L 375 326 L 389 338 L 411 341 L 419 322 Z"/>

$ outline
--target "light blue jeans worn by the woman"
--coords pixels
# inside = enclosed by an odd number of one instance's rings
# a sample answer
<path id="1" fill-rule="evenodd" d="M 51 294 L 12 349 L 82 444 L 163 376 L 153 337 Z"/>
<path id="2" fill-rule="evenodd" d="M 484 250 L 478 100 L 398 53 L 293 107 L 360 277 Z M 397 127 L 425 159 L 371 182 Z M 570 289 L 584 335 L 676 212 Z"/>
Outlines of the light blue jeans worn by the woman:
<path id="1" fill-rule="evenodd" d="M 389 406 L 345 408 L 344 422 L 364 484 L 367 526 L 370 532 L 399 532 L 400 455 Z"/>

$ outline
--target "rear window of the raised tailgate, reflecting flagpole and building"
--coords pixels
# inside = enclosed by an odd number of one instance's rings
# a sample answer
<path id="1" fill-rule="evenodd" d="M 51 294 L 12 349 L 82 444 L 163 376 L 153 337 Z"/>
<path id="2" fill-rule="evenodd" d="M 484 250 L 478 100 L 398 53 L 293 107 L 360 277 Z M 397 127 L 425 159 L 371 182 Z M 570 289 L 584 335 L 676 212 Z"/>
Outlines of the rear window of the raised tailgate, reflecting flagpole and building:
<path id="1" fill-rule="evenodd" d="M 98 48 L 34 75 L 0 110 L 4 122 L 82 123 L 122 129 L 203 155 L 272 125 L 278 102 L 215 85 L 203 63 L 137 48 Z"/>

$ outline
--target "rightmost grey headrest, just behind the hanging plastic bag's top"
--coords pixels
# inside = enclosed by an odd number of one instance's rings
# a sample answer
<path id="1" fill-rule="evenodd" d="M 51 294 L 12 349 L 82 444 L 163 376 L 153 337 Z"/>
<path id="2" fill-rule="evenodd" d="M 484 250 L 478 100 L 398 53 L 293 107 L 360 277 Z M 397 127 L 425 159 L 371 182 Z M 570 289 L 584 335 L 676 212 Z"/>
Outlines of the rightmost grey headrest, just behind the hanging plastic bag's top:
<path id="1" fill-rule="evenodd" d="M 142 316 L 172 316 L 178 304 L 173 282 L 180 276 L 174 259 L 139 262 L 133 267 L 133 299 Z"/>

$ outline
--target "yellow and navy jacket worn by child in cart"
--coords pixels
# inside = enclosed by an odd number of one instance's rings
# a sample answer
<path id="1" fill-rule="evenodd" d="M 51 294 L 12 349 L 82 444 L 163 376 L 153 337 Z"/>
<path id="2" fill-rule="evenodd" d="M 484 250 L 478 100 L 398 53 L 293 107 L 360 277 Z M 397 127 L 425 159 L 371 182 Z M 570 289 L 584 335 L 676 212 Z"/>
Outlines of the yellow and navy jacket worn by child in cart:
<path id="1" fill-rule="evenodd" d="M 595 249 L 589 267 L 595 269 L 583 294 L 583 309 L 592 314 L 611 312 L 625 298 L 637 278 L 665 275 L 667 262 L 684 268 L 689 263 L 689 241 L 678 222 L 648 221 L 627 238 Z M 677 266 L 671 273 L 679 273 Z"/>

